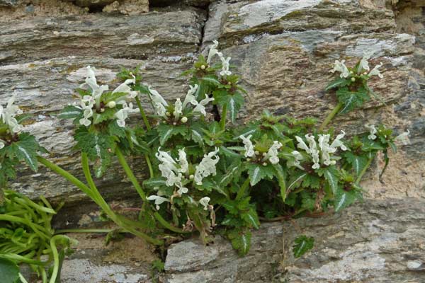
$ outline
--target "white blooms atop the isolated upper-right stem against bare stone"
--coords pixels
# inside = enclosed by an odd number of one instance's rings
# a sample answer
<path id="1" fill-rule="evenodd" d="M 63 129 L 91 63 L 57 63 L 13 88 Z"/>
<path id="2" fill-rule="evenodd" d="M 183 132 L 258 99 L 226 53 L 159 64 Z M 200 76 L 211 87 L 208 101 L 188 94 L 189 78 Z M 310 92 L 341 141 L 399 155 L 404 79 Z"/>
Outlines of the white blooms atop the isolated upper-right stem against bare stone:
<path id="1" fill-rule="evenodd" d="M 360 60 L 356 68 L 348 69 L 345 65 L 345 60 L 335 60 L 334 63 L 334 69 L 331 70 L 332 73 L 335 71 L 339 71 L 341 74 L 339 75 L 342 78 L 348 78 L 351 76 L 351 81 L 356 81 L 356 78 L 354 76 L 368 76 L 370 78 L 371 76 L 379 76 L 380 79 L 382 79 L 384 76 L 380 73 L 379 68 L 382 67 L 382 63 L 376 65 L 372 70 L 370 70 L 368 59 L 370 59 L 370 56 L 365 55 Z"/>

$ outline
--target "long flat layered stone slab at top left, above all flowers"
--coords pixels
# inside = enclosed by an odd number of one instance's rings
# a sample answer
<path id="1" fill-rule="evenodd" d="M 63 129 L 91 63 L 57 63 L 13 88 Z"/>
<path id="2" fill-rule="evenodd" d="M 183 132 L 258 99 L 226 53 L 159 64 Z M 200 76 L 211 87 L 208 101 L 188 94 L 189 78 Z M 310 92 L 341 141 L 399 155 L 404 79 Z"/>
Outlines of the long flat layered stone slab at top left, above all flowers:
<path id="1" fill-rule="evenodd" d="M 123 18 L 88 14 L 0 24 L 0 62 L 65 56 L 152 59 L 198 50 L 204 16 L 196 11 Z"/>

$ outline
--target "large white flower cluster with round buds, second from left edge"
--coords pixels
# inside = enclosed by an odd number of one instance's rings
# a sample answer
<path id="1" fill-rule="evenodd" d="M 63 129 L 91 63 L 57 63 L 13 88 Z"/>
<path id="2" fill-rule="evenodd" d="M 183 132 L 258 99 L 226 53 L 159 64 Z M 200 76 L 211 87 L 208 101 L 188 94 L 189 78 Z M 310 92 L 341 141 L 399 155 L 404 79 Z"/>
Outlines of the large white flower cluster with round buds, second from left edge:
<path id="1" fill-rule="evenodd" d="M 90 90 L 91 95 L 83 96 L 79 105 L 76 105 L 77 108 L 83 110 L 83 117 L 79 120 L 80 125 L 89 127 L 92 124 L 91 119 L 94 116 L 94 111 L 102 113 L 105 112 L 106 107 L 116 108 L 117 105 L 120 105 L 120 110 L 115 112 L 114 117 L 117 119 L 118 126 L 125 127 L 125 119 L 127 119 L 128 113 L 137 112 L 137 110 L 133 110 L 132 103 L 128 103 L 127 101 L 137 96 L 137 91 L 132 91 L 130 88 L 130 84 L 136 82 L 135 76 L 121 83 L 120 86 L 112 91 L 111 99 L 105 100 L 103 99 L 103 93 L 109 90 L 109 86 L 98 85 L 95 67 L 88 66 L 86 69 L 87 77 L 85 83 L 81 84 L 80 88 Z"/>

